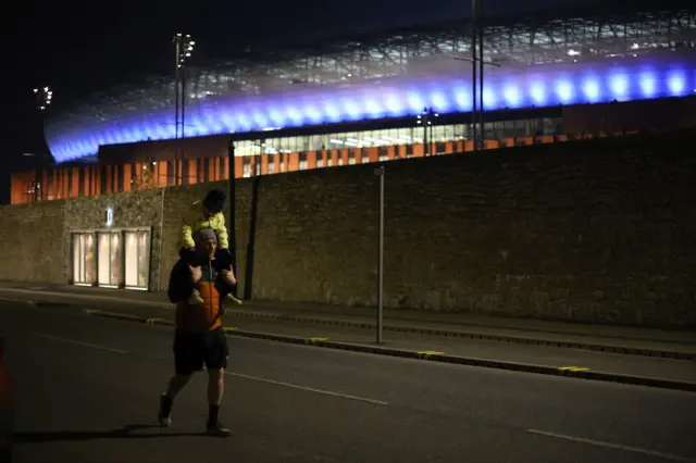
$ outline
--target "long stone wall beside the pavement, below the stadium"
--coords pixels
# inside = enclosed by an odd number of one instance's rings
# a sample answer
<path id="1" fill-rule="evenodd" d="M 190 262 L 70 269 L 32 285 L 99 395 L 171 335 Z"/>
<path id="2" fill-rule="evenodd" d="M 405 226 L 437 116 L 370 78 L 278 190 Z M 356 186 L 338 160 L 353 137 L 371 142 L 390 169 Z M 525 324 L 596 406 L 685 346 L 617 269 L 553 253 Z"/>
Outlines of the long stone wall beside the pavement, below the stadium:
<path id="1" fill-rule="evenodd" d="M 696 326 L 695 140 L 683 132 L 386 163 L 386 304 Z M 240 287 L 252 278 L 254 298 L 374 304 L 373 171 L 238 180 Z M 213 186 L 3 208 L 0 278 L 65 283 L 66 234 L 101 226 L 110 204 L 114 226 L 152 226 L 151 280 L 162 288 L 181 213 Z"/>

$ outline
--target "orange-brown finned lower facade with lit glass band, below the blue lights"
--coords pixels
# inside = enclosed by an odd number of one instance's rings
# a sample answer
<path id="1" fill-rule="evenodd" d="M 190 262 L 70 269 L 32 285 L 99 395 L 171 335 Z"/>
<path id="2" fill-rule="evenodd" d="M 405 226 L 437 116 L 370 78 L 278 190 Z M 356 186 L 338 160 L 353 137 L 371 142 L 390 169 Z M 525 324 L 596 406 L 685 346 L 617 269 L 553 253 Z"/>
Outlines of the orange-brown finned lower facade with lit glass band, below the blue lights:
<path id="1" fill-rule="evenodd" d="M 567 141 L 560 117 L 490 122 L 485 125 L 484 149 Z M 309 168 L 327 168 L 368 162 L 444 155 L 473 150 L 469 124 L 443 124 L 375 130 L 337 132 L 235 141 L 237 178 L 273 175 Z M 192 157 L 191 157 L 192 158 Z M 178 164 L 178 168 L 176 167 Z M 41 171 L 39 188 L 35 173 L 13 175 L 12 203 L 109 195 L 144 188 L 191 185 L 228 178 L 228 157 L 203 155 L 115 165 L 82 164 Z M 176 173 L 179 173 L 178 178 Z M 42 187 L 42 188 L 41 188 Z"/>

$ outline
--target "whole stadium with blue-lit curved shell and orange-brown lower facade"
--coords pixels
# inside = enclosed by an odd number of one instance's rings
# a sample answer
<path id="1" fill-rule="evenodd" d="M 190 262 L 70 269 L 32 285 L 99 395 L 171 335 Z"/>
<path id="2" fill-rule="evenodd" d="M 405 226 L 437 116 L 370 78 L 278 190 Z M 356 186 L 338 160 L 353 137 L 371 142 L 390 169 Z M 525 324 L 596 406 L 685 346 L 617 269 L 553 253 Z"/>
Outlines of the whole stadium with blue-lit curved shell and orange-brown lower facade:
<path id="1" fill-rule="evenodd" d="M 13 175 L 12 203 L 128 190 L 141 167 L 153 186 L 226 178 L 224 149 L 202 148 L 222 135 L 236 140 L 237 176 L 468 151 L 468 27 L 458 21 L 186 65 L 184 122 L 174 70 L 57 108 L 46 137 L 59 166 L 38 180 Z M 695 8 L 500 16 L 483 28 L 484 148 L 572 138 L 577 130 L 563 114 L 575 105 L 696 91 Z M 182 136 L 179 148 L 166 141 Z"/>

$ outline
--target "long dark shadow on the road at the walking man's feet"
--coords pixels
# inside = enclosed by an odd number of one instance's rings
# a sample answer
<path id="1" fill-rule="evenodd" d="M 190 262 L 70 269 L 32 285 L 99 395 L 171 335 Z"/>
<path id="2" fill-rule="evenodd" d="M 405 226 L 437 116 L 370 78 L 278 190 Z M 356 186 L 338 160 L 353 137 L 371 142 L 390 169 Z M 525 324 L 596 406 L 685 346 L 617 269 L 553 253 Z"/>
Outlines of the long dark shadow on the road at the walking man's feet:
<path id="1" fill-rule="evenodd" d="M 162 429 L 160 433 L 139 433 L 137 430 Z M 52 442 L 57 440 L 90 440 L 90 439 L 149 439 L 153 437 L 206 436 L 206 433 L 166 433 L 159 425 L 128 425 L 121 429 L 105 431 L 89 430 L 58 430 L 52 433 L 16 433 L 15 443 Z"/>

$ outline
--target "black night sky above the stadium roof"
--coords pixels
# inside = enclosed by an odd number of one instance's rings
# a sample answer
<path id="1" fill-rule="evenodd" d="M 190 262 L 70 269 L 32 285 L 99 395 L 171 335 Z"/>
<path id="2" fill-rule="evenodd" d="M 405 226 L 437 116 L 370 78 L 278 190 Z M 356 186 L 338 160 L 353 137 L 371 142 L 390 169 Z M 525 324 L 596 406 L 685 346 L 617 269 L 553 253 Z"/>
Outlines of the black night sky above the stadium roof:
<path id="1" fill-rule="evenodd" d="M 487 13 L 512 15 L 558 9 L 558 3 L 564 9 L 608 4 L 597 0 L 485 1 Z M 30 168 L 30 158 L 22 153 L 47 152 L 34 87 L 48 85 L 58 102 L 73 101 L 90 90 L 108 90 L 128 75 L 166 73 L 174 59 L 171 38 L 176 32 L 194 36 L 196 57 L 214 57 L 260 43 L 359 36 L 462 18 L 469 15 L 471 0 L 26 0 L 14 2 L 12 9 L 14 13 L 11 9 L 3 13 L 0 46 L 5 80 L 0 97 L 0 203 L 9 202 L 9 172 Z"/>

